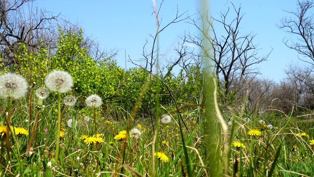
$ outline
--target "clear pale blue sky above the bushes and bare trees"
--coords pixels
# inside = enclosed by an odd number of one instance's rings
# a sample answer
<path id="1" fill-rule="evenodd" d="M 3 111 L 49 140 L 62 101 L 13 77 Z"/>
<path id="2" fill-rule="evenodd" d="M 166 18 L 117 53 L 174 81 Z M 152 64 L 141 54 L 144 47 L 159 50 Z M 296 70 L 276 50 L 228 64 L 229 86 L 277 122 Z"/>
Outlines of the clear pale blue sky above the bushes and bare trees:
<path id="1" fill-rule="evenodd" d="M 157 6 L 161 0 L 156 0 Z M 259 44 L 258 56 L 264 56 L 273 48 L 267 61 L 258 67 L 264 78 L 280 81 L 284 78 L 284 69 L 291 61 L 297 62 L 298 54 L 288 49 L 282 42 L 290 37 L 276 24 L 287 15 L 283 10 L 295 10 L 296 0 L 234 0 L 235 7 L 241 4 L 244 17 L 241 32 L 257 34 L 254 43 Z M 37 0 L 39 8 L 61 13 L 67 20 L 78 22 L 87 36 L 95 38 L 106 49 L 120 50 L 116 60 L 125 67 L 125 51 L 131 59 L 142 58 L 143 45 L 146 39 L 152 43 L 150 34 L 156 32 L 156 19 L 153 13 L 152 0 Z M 177 5 L 180 12 L 192 15 L 200 9 L 199 0 L 164 0 L 160 11 L 163 27 L 173 20 Z M 218 12 L 226 11 L 232 4 L 229 0 L 212 0 L 211 14 L 218 17 Z M 160 18 L 160 17 L 159 17 Z M 196 18 L 196 17 L 195 17 Z M 169 26 L 159 36 L 160 52 L 168 58 L 185 30 L 195 31 L 187 23 Z M 216 29 L 217 30 L 217 29 Z M 219 30 L 219 29 L 218 29 Z M 302 57 L 302 56 L 299 56 Z M 161 58 L 162 59 L 162 58 Z M 132 66 L 127 62 L 127 67 Z"/>

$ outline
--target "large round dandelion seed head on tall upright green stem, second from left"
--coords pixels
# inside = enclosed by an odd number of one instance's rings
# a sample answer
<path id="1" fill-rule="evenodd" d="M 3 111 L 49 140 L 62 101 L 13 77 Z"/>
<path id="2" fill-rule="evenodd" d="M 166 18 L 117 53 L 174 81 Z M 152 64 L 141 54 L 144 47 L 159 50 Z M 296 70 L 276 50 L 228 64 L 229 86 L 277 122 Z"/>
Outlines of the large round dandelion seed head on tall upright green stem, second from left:
<path id="1" fill-rule="evenodd" d="M 51 91 L 66 93 L 73 87 L 73 79 L 66 71 L 54 70 L 46 75 L 45 84 Z"/>

